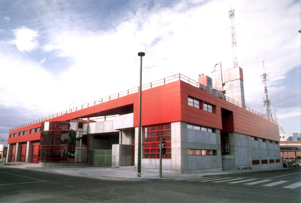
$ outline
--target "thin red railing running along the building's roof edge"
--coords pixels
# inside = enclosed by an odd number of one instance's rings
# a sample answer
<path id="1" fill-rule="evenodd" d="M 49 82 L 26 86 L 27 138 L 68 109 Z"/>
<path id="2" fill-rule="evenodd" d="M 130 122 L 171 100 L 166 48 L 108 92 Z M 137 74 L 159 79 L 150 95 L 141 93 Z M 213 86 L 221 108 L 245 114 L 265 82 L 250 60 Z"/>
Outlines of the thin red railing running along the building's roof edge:
<path id="1" fill-rule="evenodd" d="M 239 106 L 243 109 L 246 109 L 249 112 L 252 112 L 252 113 L 254 113 L 254 114 L 256 114 L 256 115 L 258 115 L 262 118 L 265 118 L 265 119 L 267 119 L 271 122 L 274 122 L 274 123 L 278 124 L 278 122 L 275 121 L 274 119 L 269 118 L 269 117 L 255 111 L 255 110 L 243 105 L 242 103 L 239 103 L 239 102 L 237 102 L 237 101 L 235 101 L 235 100 L 219 93 L 218 91 L 215 91 L 215 90 L 213 90 L 209 87 L 206 87 L 206 86 L 196 82 L 195 80 L 190 79 L 190 78 L 188 78 L 188 77 L 186 77 L 182 74 L 176 74 L 176 75 L 169 76 L 167 78 L 163 78 L 163 79 L 151 82 L 151 83 L 147 83 L 145 85 L 142 85 L 142 90 L 151 89 L 151 88 L 154 88 L 154 87 L 157 87 L 157 86 L 160 86 L 160 85 L 165 85 L 167 83 L 175 82 L 177 80 L 182 80 L 182 81 L 188 83 L 189 85 L 193 85 L 194 87 L 200 88 L 200 89 L 202 89 L 202 90 L 204 90 L 204 91 L 206 91 L 206 92 L 208 92 L 208 93 L 210 93 L 210 94 L 212 94 L 216 97 L 224 99 L 224 100 L 226 100 L 226 101 L 228 101 L 228 102 L 230 102 L 230 103 L 232 103 L 236 106 Z M 76 106 L 76 107 L 67 109 L 66 111 L 62 111 L 62 112 L 59 112 L 59 113 L 56 113 L 56 114 L 53 114 L 53 115 L 50 115 L 50 116 L 46 116 L 46 117 L 40 118 L 39 120 L 32 121 L 32 122 L 17 126 L 17 127 L 11 128 L 9 130 L 11 131 L 11 130 L 15 130 L 15 129 L 18 129 L 18 128 L 21 128 L 21 127 L 25 127 L 27 125 L 39 123 L 41 121 L 45 121 L 45 120 L 48 120 L 48 119 L 51 119 L 51 118 L 55 118 L 55 117 L 58 117 L 58 116 L 61 116 L 61 115 L 67 114 L 67 113 L 71 113 L 71 112 L 74 112 L 74 111 L 78 111 L 78 110 L 81 110 L 81 109 L 85 109 L 85 108 L 88 108 L 88 107 L 91 107 L 91 106 L 95 106 L 97 104 L 104 103 L 104 102 L 107 102 L 107 101 L 110 101 L 110 100 L 114 100 L 114 99 L 117 99 L 117 98 L 120 98 L 120 97 L 124 97 L 124 96 L 134 94 L 134 93 L 137 93 L 137 92 L 139 92 L 139 87 L 135 87 L 135 88 L 123 91 L 123 92 L 119 92 L 117 94 L 113 94 L 113 95 L 110 95 L 108 97 L 104 97 L 104 98 L 101 98 L 99 100 L 95 100 L 95 101 L 92 101 L 90 103 L 83 104 L 81 106 Z"/>

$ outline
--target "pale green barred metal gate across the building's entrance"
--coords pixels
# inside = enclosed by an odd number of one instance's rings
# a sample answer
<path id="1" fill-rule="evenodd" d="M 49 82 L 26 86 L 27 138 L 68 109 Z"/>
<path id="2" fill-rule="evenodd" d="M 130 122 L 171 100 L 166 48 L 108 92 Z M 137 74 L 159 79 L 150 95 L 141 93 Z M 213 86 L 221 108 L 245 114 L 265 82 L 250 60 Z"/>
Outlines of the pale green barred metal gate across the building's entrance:
<path id="1" fill-rule="evenodd" d="M 112 167 L 112 150 L 91 151 L 90 165 Z"/>

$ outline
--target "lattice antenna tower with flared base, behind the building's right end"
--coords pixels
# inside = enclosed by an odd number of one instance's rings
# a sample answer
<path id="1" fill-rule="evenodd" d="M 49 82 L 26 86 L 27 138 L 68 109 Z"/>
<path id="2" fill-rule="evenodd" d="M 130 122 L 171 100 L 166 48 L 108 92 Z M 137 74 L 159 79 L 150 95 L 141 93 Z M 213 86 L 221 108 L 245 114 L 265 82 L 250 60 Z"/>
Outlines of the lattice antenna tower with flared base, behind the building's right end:
<path id="1" fill-rule="evenodd" d="M 280 122 L 278 121 L 276 115 L 275 115 L 275 112 L 273 110 L 273 107 L 272 107 L 272 103 L 268 97 L 268 87 L 266 85 L 266 81 L 268 81 L 268 74 L 269 73 L 265 73 L 265 69 L 264 69 L 264 61 L 262 61 L 263 63 L 263 75 L 261 75 L 261 80 L 264 84 L 264 94 L 265 94 L 265 97 L 264 97 L 264 100 L 263 100 L 263 114 L 270 118 L 272 121 L 276 121 L 278 122 L 278 125 L 279 125 L 279 130 L 281 133 L 285 133 Z"/>

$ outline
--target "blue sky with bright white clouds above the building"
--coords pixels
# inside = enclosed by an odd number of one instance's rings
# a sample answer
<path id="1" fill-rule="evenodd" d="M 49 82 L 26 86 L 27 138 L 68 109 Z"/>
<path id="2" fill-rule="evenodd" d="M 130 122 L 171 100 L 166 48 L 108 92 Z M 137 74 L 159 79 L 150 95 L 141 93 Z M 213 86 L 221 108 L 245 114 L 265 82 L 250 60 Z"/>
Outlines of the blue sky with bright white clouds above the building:
<path id="1" fill-rule="evenodd" d="M 264 86 L 284 131 L 300 133 L 300 1 L 0 0 L 0 137 L 12 127 L 181 73 L 232 67 L 235 10 L 246 105 Z"/>

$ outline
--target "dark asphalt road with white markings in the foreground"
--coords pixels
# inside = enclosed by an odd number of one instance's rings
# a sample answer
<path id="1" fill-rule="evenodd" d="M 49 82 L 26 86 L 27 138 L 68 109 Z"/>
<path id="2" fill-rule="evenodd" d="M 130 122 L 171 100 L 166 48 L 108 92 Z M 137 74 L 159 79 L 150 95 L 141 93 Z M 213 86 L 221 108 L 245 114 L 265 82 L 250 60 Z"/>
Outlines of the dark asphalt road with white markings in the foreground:
<path id="1" fill-rule="evenodd" d="M 237 181 L 244 182 L 235 183 Z M 253 184 L 257 181 L 264 182 Z M 214 175 L 181 181 L 108 181 L 0 167 L 0 202 L 291 203 L 300 202 L 298 182 L 300 169 Z M 270 186 L 264 186 L 266 184 Z M 287 186 L 290 188 L 284 188 Z"/>

